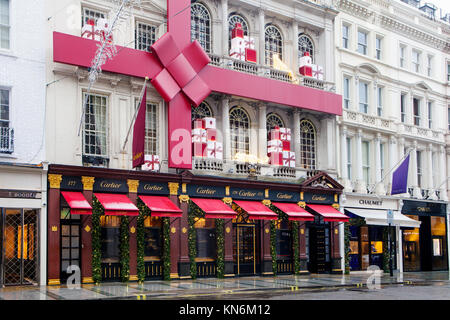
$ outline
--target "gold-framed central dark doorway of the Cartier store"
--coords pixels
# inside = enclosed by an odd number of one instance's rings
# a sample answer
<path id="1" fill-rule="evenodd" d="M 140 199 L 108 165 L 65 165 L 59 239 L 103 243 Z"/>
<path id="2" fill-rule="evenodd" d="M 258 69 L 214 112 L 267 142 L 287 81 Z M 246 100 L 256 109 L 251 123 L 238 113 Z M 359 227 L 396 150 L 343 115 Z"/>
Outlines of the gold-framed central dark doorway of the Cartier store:
<path id="1" fill-rule="evenodd" d="M 255 275 L 259 268 L 258 223 L 236 223 L 233 237 L 234 273 Z"/>

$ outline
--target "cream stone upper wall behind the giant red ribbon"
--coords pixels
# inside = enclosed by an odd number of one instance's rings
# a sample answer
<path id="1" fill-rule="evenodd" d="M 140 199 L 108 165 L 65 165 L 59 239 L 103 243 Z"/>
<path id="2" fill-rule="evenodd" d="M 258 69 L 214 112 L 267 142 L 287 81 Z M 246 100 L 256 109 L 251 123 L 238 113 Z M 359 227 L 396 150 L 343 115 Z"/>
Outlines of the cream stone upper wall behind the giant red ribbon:
<path id="1" fill-rule="evenodd" d="M 88 6 L 97 10 L 102 10 L 111 15 L 112 6 L 109 1 L 73 1 L 70 5 L 60 10 L 55 10 L 59 3 L 55 0 L 47 1 L 48 15 L 52 18 L 48 24 L 47 32 L 47 77 L 48 82 L 52 84 L 47 88 L 47 156 L 50 163 L 82 165 L 82 135 L 78 135 L 79 121 L 82 112 L 82 94 L 87 90 L 87 72 L 82 68 L 58 64 L 53 62 L 52 57 L 52 32 L 64 32 L 73 35 L 81 34 L 81 10 L 83 6 Z M 117 34 L 114 34 L 118 45 L 127 45 L 134 47 L 134 26 L 135 21 L 143 21 L 157 27 L 157 35 L 161 36 L 166 30 L 164 24 L 166 1 L 154 1 L 156 5 L 146 5 L 142 10 L 133 10 L 132 14 L 123 22 Z M 260 10 L 260 4 L 252 1 L 242 1 L 237 7 L 237 3 L 228 3 L 227 1 L 202 1 L 210 10 L 212 18 L 212 52 L 217 56 L 224 55 L 224 46 L 228 46 L 228 22 L 223 18 L 223 12 L 239 12 L 249 22 L 250 35 L 255 37 L 256 47 L 260 47 L 261 14 L 264 13 L 265 23 L 274 23 L 280 28 L 283 34 L 283 46 L 285 53 L 285 62 L 293 70 L 297 66 L 297 39 L 294 36 L 297 32 L 308 32 L 314 39 L 317 50 L 317 61 L 324 65 L 326 70 L 326 83 L 328 87 L 334 86 L 334 59 L 327 54 L 326 48 L 333 47 L 334 38 L 332 19 L 336 12 L 326 12 L 323 8 L 315 4 L 294 4 L 285 1 L 283 3 L 276 1 L 267 1 Z M 161 10 L 162 8 L 162 10 Z M 225 10 L 226 9 L 226 10 Z M 296 23 L 293 23 L 295 19 Z M 225 51 L 226 53 L 226 51 Z M 258 55 L 261 56 L 261 51 Z M 122 145 L 130 126 L 130 121 L 134 113 L 134 101 L 139 98 L 143 80 L 126 77 L 118 74 L 103 74 L 95 83 L 91 92 L 103 94 L 108 97 L 108 155 L 109 167 L 119 169 L 131 169 L 131 141 L 125 152 L 122 152 Z M 148 99 L 159 105 L 159 153 L 162 159 L 162 171 L 167 171 L 167 106 L 162 101 L 157 92 L 149 86 Z M 266 113 L 277 112 L 285 121 L 287 127 L 293 130 L 299 127 L 299 120 L 303 118 L 310 119 L 317 129 L 317 160 L 316 169 L 327 170 L 329 173 L 336 173 L 336 157 L 334 150 L 330 152 L 327 144 L 332 145 L 335 137 L 335 118 L 319 113 L 303 112 L 298 114 L 298 121 L 293 114 L 296 112 L 293 108 L 277 105 L 267 105 L 257 101 L 244 101 L 239 97 L 223 97 L 211 95 L 206 102 L 211 106 L 214 117 L 217 119 L 218 129 L 222 130 L 224 114 L 223 99 L 228 99 L 228 108 L 239 104 L 244 107 L 251 118 L 251 154 L 258 156 L 264 152 L 267 139 L 263 137 L 260 129 L 265 130 L 265 125 L 260 123 L 261 107 L 266 109 Z M 294 112 L 295 111 L 295 112 Z M 224 146 L 229 143 L 229 135 L 223 135 Z M 294 149 L 294 145 L 292 145 Z M 225 153 L 227 151 L 225 150 Z M 225 154 L 224 154 L 225 156 Z M 227 164 L 225 164 L 226 167 Z M 230 163 L 228 163 L 230 165 Z M 226 174 L 229 167 L 222 172 Z M 269 170 L 270 171 L 270 170 Z M 215 173 L 217 174 L 217 173 Z M 296 178 L 306 174 L 306 171 L 297 173 Z"/>

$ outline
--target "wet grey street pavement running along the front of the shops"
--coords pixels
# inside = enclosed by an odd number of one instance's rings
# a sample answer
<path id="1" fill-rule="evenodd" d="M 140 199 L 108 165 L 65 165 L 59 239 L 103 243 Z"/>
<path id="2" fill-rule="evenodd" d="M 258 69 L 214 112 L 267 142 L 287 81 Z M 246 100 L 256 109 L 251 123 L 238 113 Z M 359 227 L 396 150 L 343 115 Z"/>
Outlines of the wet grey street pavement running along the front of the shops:
<path id="1" fill-rule="evenodd" d="M 104 283 L 98 286 L 6 287 L 0 300 L 174 300 L 174 299 L 450 299 L 449 272 L 350 275 L 279 275 L 277 277 L 241 277 Z M 379 290 L 373 287 L 379 284 Z M 403 297 L 403 298 L 402 298 Z"/>

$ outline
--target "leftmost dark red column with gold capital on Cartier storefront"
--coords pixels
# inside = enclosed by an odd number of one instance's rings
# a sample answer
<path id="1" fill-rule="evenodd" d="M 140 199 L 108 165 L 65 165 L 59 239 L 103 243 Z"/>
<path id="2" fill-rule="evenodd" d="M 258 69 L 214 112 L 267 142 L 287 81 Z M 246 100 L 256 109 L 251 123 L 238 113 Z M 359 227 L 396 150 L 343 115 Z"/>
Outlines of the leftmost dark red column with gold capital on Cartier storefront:
<path id="1" fill-rule="evenodd" d="M 62 175 L 49 174 L 48 227 L 47 227 L 47 283 L 60 285 L 61 275 L 61 193 Z M 45 239 L 41 239 L 45 241 Z M 43 257 L 45 259 L 45 257 Z"/>

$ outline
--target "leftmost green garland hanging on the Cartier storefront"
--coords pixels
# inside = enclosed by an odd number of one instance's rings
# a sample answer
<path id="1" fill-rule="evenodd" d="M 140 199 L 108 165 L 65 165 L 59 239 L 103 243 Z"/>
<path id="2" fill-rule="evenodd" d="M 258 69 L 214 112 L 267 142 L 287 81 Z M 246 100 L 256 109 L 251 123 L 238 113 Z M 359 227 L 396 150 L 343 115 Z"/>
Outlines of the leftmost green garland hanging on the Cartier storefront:
<path id="1" fill-rule="evenodd" d="M 92 207 L 92 280 L 98 285 L 102 281 L 100 216 L 103 215 L 104 209 L 95 196 Z"/>

